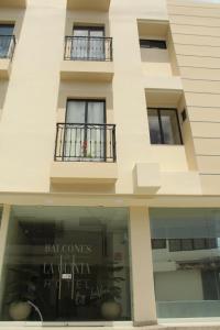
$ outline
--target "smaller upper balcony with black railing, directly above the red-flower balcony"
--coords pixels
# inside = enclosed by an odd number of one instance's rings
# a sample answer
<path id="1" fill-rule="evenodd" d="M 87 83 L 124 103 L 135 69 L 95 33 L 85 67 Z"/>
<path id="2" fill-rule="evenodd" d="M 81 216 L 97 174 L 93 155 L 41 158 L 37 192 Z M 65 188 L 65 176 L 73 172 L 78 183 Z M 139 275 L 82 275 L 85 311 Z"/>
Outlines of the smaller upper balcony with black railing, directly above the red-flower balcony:
<path id="1" fill-rule="evenodd" d="M 112 38 L 66 36 L 62 79 L 106 81 L 113 78 Z"/>

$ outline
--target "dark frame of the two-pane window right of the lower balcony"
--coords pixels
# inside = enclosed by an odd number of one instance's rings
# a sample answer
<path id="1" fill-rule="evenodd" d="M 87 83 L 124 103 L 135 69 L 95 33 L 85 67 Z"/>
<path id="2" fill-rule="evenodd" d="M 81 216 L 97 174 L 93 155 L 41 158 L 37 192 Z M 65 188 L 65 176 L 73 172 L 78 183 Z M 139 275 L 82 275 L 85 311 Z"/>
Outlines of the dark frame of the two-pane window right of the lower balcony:
<path id="1" fill-rule="evenodd" d="M 184 141 L 183 141 L 183 135 L 182 135 L 182 129 L 180 129 L 180 122 L 179 122 L 179 117 L 178 117 L 178 109 L 176 108 L 158 108 L 158 107 L 148 107 L 147 108 L 147 118 L 148 118 L 148 110 L 154 110 L 157 113 L 157 118 L 158 118 L 158 128 L 160 128 L 160 136 L 161 136 L 161 143 L 152 143 L 151 144 L 161 144 L 161 145 L 183 145 Z M 177 120 L 177 131 L 178 131 L 178 135 L 179 135 L 179 141 L 180 143 L 178 144 L 168 144 L 164 142 L 164 130 L 163 130 L 163 124 L 162 124 L 162 116 L 161 112 L 164 110 L 170 110 L 174 111 L 176 114 L 176 120 Z M 150 140 L 151 140 L 151 128 L 150 128 L 150 121 L 148 121 L 148 130 L 150 130 Z"/>

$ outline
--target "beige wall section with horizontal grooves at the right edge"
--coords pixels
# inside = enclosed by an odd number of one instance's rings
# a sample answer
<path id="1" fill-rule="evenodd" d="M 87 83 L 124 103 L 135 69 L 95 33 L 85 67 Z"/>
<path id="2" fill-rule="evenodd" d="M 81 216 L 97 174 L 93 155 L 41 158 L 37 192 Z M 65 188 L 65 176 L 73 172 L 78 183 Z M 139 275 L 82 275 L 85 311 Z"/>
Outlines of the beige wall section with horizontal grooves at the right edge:
<path id="1" fill-rule="evenodd" d="M 202 193 L 219 194 L 220 8 L 198 1 L 167 3 Z"/>

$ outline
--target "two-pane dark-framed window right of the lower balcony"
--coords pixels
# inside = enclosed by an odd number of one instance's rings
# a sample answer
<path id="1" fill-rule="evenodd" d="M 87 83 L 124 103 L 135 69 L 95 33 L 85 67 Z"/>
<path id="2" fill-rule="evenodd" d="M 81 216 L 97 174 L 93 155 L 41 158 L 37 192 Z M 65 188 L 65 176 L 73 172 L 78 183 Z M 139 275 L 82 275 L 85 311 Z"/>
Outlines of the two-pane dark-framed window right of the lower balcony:
<path id="1" fill-rule="evenodd" d="M 152 144 L 183 143 L 176 109 L 150 108 L 147 114 Z"/>

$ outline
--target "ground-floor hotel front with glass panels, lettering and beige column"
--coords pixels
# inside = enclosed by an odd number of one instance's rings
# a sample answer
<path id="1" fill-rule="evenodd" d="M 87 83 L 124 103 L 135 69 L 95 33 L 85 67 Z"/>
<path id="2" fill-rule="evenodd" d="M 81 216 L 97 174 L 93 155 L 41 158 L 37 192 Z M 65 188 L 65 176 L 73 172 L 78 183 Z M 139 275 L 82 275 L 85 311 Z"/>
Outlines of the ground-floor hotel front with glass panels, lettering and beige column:
<path id="1" fill-rule="evenodd" d="M 220 324 L 218 200 L 46 198 L 1 207 L 0 327 Z"/>

